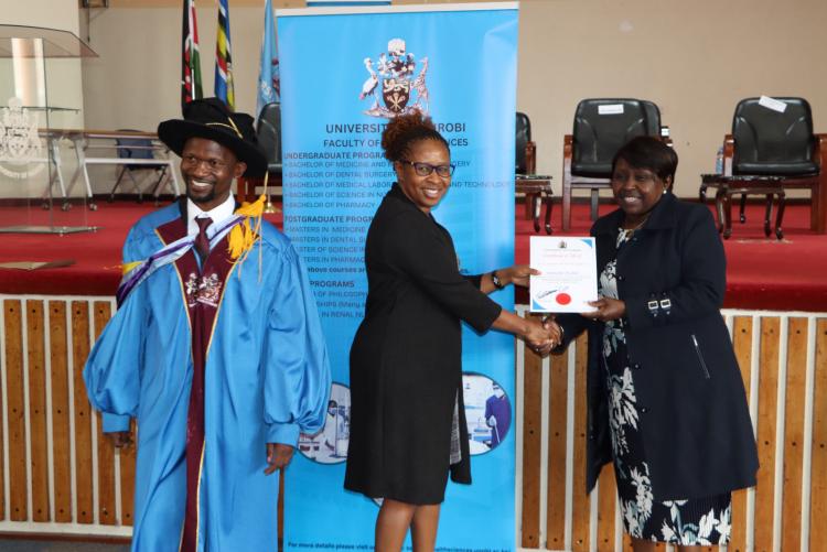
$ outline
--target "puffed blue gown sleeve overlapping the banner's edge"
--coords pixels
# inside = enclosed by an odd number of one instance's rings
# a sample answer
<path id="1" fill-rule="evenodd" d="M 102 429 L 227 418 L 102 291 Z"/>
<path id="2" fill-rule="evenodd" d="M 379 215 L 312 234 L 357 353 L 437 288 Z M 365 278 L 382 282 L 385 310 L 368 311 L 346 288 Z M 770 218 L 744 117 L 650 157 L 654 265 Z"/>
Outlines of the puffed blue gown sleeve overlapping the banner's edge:
<path id="1" fill-rule="evenodd" d="M 265 336 L 265 423 L 268 443 L 296 446 L 299 432 L 324 425 L 331 375 L 304 266 L 292 247 L 277 262 Z"/>

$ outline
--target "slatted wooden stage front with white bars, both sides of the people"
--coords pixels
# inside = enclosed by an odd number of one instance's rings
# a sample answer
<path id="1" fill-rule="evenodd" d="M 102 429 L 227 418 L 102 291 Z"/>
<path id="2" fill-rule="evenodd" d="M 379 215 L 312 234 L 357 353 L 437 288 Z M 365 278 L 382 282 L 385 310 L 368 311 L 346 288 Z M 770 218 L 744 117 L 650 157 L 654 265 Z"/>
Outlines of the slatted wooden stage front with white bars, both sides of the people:
<path id="1" fill-rule="evenodd" d="M 12 314 L 19 316 L 19 324 L 18 318 L 14 318 L 9 311 L 10 307 L 17 305 L 15 302 L 20 302 L 20 313 Z M 94 296 L 0 295 L 0 305 L 2 305 L 2 309 L 0 309 L 0 328 L 2 328 L 0 331 L 0 359 L 2 359 L 0 366 L 2 455 L 0 455 L 0 458 L 2 459 L 3 472 L 3 488 L 2 494 L 0 494 L 0 498 L 3 500 L 1 505 L 3 515 L 0 517 L 0 532 L 129 537 L 131 534 L 131 520 L 125 523 L 123 515 L 125 508 L 130 507 L 123 506 L 122 495 L 127 493 L 128 496 L 131 496 L 131 487 L 126 488 L 126 486 L 131 485 L 131 481 L 125 479 L 121 483 L 120 453 L 116 451 L 111 456 L 104 454 L 104 458 L 111 458 L 112 465 L 99 465 L 101 447 L 98 443 L 98 419 L 96 415 L 78 418 L 75 409 L 76 397 L 83 396 L 79 400 L 85 400 L 85 391 L 75 387 L 76 381 L 78 381 L 78 371 L 83 369 L 83 366 L 82 361 L 75 358 L 76 355 L 73 355 L 73 344 L 90 345 L 94 343 L 96 331 L 99 332 L 106 317 L 100 313 L 96 316 L 95 309 L 104 305 L 108 310 L 107 313 L 114 312 L 115 300 Z M 52 307 L 63 305 L 65 315 L 62 316 L 62 320 L 53 320 L 50 315 L 50 305 Z M 74 315 L 73 307 L 78 309 Z M 36 314 L 37 312 L 41 314 Z M 78 312 L 80 318 L 78 318 Z M 518 312 L 525 314 L 526 309 L 520 307 Z M 817 404 L 827 404 L 827 400 L 821 398 L 819 399 L 821 402 L 817 403 L 815 394 L 816 376 L 823 375 L 827 370 L 827 337 L 825 337 L 827 335 L 827 314 L 726 310 L 723 315 L 730 333 L 733 334 L 738 329 L 739 334 L 742 334 L 734 337 L 737 338 L 739 359 L 742 362 L 742 371 L 745 378 L 749 375 L 748 396 L 753 427 L 759 432 L 760 441 L 765 435 L 772 437 L 765 439 L 764 444 L 760 443 L 760 455 L 763 454 L 763 469 L 771 469 L 772 472 L 760 474 L 759 477 L 759 488 L 772 489 L 772 493 L 758 490 L 758 493 L 764 493 L 760 504 L 756 501 L 756 489 L 749 489 L 737 499 L 741 500 L 737 502 L 739 505 L 737 508 L 741 508 L 743 511 L 740 518 L 743 526 L 742 548 L 740 550 L 747 552 L 761 550 L 773 552 L 801 550 L 806 552 L 813 550 L 816 552 L 816 548 L 808 548 L 810 538 L 816 537 L 812 533 L 820 531 L 818 534 L 824 537 L 825 531 L 827 531 L 827 528 L 824 530 L 820 527 L 813 528 L 810 523 L 814 504 L 818 501 L 819 508 L 824 508 L 825 501 L 827 501 L 827 498 L 824 497 L 826 476 L 814 472 L 816 468 L 813 466 L 814 435 L 817 433 L 821 435 L 819 439 L 823 439 L 827 433 L 821 427 L 821 424 L 827 423 L 827 419 L 825 419 L 827 413 L 823 413 L 820 418 L 816 413 Z M 30 332 L 30 327 L 34 329 Z M 745 328 L 749 328 L 749 331 Z M 85 333 L 85 335 L 76 335 L 78 332 Z M 824 335 L 819 332 L 823 332 Z M 51 343 L 52 336 L 60 336 L 60 339 L 65 339 L 65 359 L 60 358 L 60 351 L 56 351 L 54 344 Z M 559 495 L 554 497 L 555 493 L 560 493 L 565 497 L 565 522 L 559 534 L 554 535 L 555 542 L 559 543 L 558 550 L 560 544 L 562 550 L 566 551 L 622 551 L 625 546 L 616 500 L 613 510 L 605 511 L 605 506 L 601 507 L 600 487 L 595 488 L 588 499 L 578 496 L 582 493 L 582 489 L 574 487 L 576 470 L 582 468 L 578 465 L 579 463 L 576 463 L 576 452 L 579 446 L 576 435 L 576 409 L 582 408 L 584 400 L 577 397 L 576 393 L 578 346 L 582 346 L 582 342 L 572 344 L 565 358 L 546 358 L 539 365 L 541 370 L 539 420 L 529 420 L 533 426 L 540 427 L 538 476 L 524 474 L 523 469 L 527 459 L 526 435 L 524 434 L 527 422 L 524 407 L 525 366 L 526 355 L 530 355 L 530 353 L 527 353 L 522 346 L 517 347 L 515 401 L 517 527 L 515 531 L 518 545 L 524 542 L 524 537 L 526 537 L 520 520 L 525 516 L 539 518 L 539 523 L 536 523 L 537 518 L 533 520 L 535 522 L 533 527 L 538 527 L 535 540 L 538 545 L 524 546 L 522 550 L 555 550 L 555 548 L 548 545 L 551 539 L 547 523 L 550 499 L 559 500 L 560 498 Z M 20 347 L 20 350 L 18 350 L 18 347 Z M 35 354 L 32 351 L 35 351 Z M 36 351 L 42 351 L 42 357 L 37 356 Z M 580 356 L 582 358 L 582 355 Z M 43 366 L 30 366 L 30 358 L 35 358 L 35 361 L 42 358 Z M 22 361 L 22 366 L 19 366 L 19 360 Z M 565 468 L 558 466 L 558 469 L 555 470 L 555 473 L 565 474 L 565 480 L 551 485 L 551 490 L 549 490 L 549 434 L 551 431 L 558 433 L 561 431 L 560 427 L 552 429 L 548 424 L 551 389 L 556 385 L 551 381 L 550 368 L 551 362 L 557 361 L 566 361 L 568 366 L 565 371 L 567 379 L 565 382 L 567 389 L 566 404 L 565 409 L 561 410 L 565 414 L 563 430 L 566 432 Z M 66 367 L 66 374 L 58 374 L 58 376 L 65 376 L 68 385 L 67 436 L 55 434 L 53 387 L 56 382 L 52 380 L 53 362 L 56 362 L 54 366 L 65 364 Z M 531 366 L 531 369 L 536 369 L 534 365 Z M 10 369 L 13 370 L 13 374 L 10 374 Z M 19 377 L 19 369 L 22 371 L 22 378 Z M 44 378 L 43 381 L 45 382 L 45 403 L 42 407 L 45 410 L 45 459 L 49 466 L 45 496 L 43 496 L 42 490 L 43 484 L 39 484 L 40 490 L 37 490 L 35 500 L 34 479 L 36 477 L 33 475 L 33 465 L 37 466 L 37 461 L 43 458 L 43 451 L 42 447 L 37 448 L 33 445 L 35 441 L 42 443 L 42 435 L 36 435 L 37 432 L 33 434 L 33 431 L 35 431 L 35 427 L 40 427 L 34 420 L 37 420 L 37 416 L 41 416 L 42 420 L 43 414 L 33 411 L 39 410 L 41 404 L 40 399 L 31 396 L 30 382 L 37 369 L 43 370 L 43 375 L 37 377 Z M 818 381 L 827 382 L 827 378 L 820 376 Z M 562 382 L 560 383 L 562 385 Z M 10 400 L 17 404 L 17 399 L 9 396 L 10 385 L 14 393 L 20 393 L 22 388 L 22 412 L 10 412 L 10 409 L 14 409 L 10 404 Z M 827 397 L 827 389 L 819 388 L 818 393 L 819 397 Z M 762 400 L 766 404 L 762 405 Z M 84 403 L 80 402 L 80 404 Z M 528 415 L 535 416 L 537 414 Z M 761 424 L 765 425 L 760 426 L 759 420 L 761 420 Z M 63 423 L 65 424 L 65 421 Z M 82 424 L 88 424 L 88 426 Z M 19 433 L 21 426 L 23 427 L 22 435 Z M 78 486 L 77 447 L 80 433 L 89 436 L 82 440 L 80 446 L 86 447 L 86 440 L 88 439 L 92 458 L 92 488 L 83 488 L 85 485 Z M 12 446 L 24 447 L 22 454 L 25 461 L 24 469 L 21 469 L 19 462 L 20 451 L 12 451 Z M 68 447 L 67 451 L 66 446 Z M 824 446 L 820 443 L 816 451 L 819 458 L 825 458 L 825 455 L 827 455 L 827 452 L 824 452 Z M 69 473 L 66 474 L 66 477 L 71 479 L 68 487 L 66 481 L 62 480 L 64 476 L 55 468 L 55 462 L 62 461 L 61 455 L 64 454 L 69 455 Z M 15 461 L 15 458 L 18 459 Z M 133 462 L 133 458 L 131 461 Z M 819 464 L 819 466 L 827 468 L 827 465 Z M 88 466 L 80 467 L 84 473 L 88 473 Z M 111 485 L 106 481 L 101 484 L 103 473 L 107 474 L 106 479 Z M 20 477 L 25 478 L 24 500 L 20 493 L 21 487 L 18 480 Z M 820 486 L 818 488 L 821 489 L 819 493 L 810 491 L 814 477 L 818 478 L 818 485 Z M 80 479 L 83 480 L 83 478 Z M 534 485 L 539 486 L 537 504 L 524 504 L 524 491 L 527 486 Z M 18 494 L 13 495 L 12 487 L 18 489 Z M 71 515 L 57 516 L 55 489 L 58 487 L 68 488 L 71 491 Z M 609 489 L 609 493 L 614 493 L 613 487 Z M 89 494 L 92 495 L 90 501 Z M 111 504 L 111 497 L 114 496 L 114 516 L 107 517 L 106 522 L 101 519 L 103 495 L 108 497 L 108 504 Z M 42 505 L 44 500 L 47 500 L 47 513 L 41 511 L 35 515 L 35 502 Z M 65 497 L 62 500 L 62 504 L 65 504 Z M 790 500 L 794 504 L 791 505 Z M 18 507 L 19 510 L 13 512 L 13 504 L 24 506 L 24 511 L 19 511 L 20 507 Z M 78 512 L 78 504 L 90 504 L 92 515 L 86 511 Z M 601 508 L 604 509 L 602 516 Z M 106 510 L 105 507 L 104 510 Z M 66 521 L 58 522 L 57 519 Z M 738 522 L 738 520 L 735 521 Z M 599 545 L 599 535 L 602 538 L 601 545 Z M 609 541 L 608 544 L 606 541 Z M 733 546 L 730 548 L 733 549 Z"/>

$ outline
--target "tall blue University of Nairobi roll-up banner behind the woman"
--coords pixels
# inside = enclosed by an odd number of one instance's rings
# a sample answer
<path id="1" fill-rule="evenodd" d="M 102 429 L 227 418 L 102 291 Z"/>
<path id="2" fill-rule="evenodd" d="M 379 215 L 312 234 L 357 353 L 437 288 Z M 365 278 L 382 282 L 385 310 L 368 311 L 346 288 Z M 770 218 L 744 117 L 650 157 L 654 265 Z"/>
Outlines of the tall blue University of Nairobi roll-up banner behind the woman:
<path id="1" fill-rule="evenodd" d="M 301 435 L 287 470 L 284 550 L 368 550 L 378 504 L 343 481 L 365 236 L 395 180 L 380 134 L 399 113 L 428 113 L 457 164 L 432 213 L 461 270 L 512 266 L 517 4 L 311 8 L 277 20 L 284 231 L 307 263 L 334 379 L 324 429 Z M 492 296 L 513 309 L 512 288 Z M 463 370 L 473 484 L 449 483 L 437 549 L 514 550 L 512 336 L 464 327 Z"/>

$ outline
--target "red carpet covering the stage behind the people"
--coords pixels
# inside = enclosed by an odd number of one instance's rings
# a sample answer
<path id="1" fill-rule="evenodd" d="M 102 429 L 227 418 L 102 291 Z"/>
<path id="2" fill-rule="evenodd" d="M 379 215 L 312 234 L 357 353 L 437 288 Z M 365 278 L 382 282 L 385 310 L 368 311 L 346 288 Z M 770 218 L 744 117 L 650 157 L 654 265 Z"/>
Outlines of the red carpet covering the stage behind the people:
<path id="1" fill-rule="evenodd" d="M 42 293 L 60 295 L 112 295 L 120 280 L 120 247 L 129 227 L 153 210 L 151 203 L 107 204 L 88 213 L 88 224 L 100 226 L 94 234 L 66 236 L 0 235 L 0 262 L 54 261 L 75 259 L 75 264 L 58 269 L 21 271 L 0 269 L 0 293 Z M 601 206 L 601 214 L 611 205 Z M 3 209 L 0 209 L 2 213 Z M 516 262 L 528 261 L 530 220 L 523 218 L 517 205 Z M 763 207 L 750 205 L 748 223 L 734 223 L 727 250 L 727 297 L 724 306 L 773 311 L 827 312 L 827 236 L 808 229 L 809 207 L 787 206 L 784 241 L 764 238 Z M 268 218 L 281 226 L 281 214 Z M 555 205 L 555 232 L 559 234 L 560 207 Z M 587 205 L 576 205 L 573 230 L 567 235 L 587 235 L 590 226 Z M 545 234 L 544 234 L 545 235 Z"/>

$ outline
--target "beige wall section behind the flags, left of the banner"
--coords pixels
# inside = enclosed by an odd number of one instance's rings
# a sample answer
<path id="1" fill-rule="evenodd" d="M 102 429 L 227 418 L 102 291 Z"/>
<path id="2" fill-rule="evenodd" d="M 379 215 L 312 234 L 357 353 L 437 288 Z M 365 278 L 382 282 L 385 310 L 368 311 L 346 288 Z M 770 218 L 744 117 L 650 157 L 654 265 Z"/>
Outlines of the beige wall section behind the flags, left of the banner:
<path id="1" fill-rule="evenodd" d="M 181 2 L 123 2 L 95 14 L 90 45 L 100 53 L 84 61 L 84 99 L 90 128 L 154 131 L 181 117 Z M 250 6 L 255 3 L 256 6 Z M 297 8 L 301 1 L 273 1 Z M 159 6 L 160 4 L 160 6 Z M 256 108 L 256 84 L 264 32 L 264 0 L 230 1 L 236 110 Z M 196 1 L 204 96 L 213 96 L 218 22 L 214 1 Z"/>

